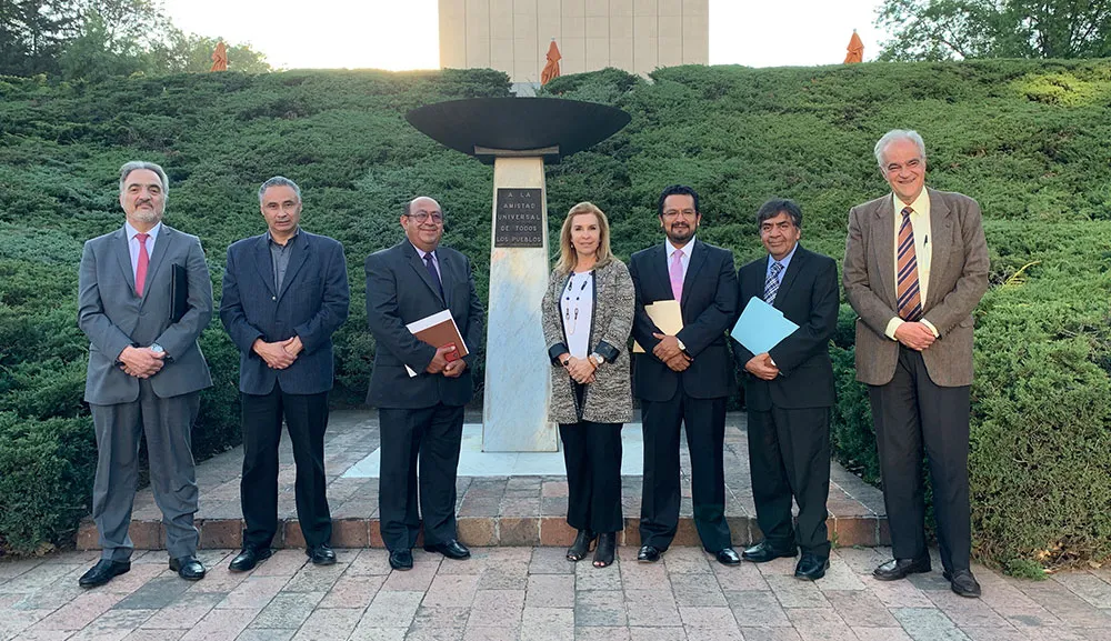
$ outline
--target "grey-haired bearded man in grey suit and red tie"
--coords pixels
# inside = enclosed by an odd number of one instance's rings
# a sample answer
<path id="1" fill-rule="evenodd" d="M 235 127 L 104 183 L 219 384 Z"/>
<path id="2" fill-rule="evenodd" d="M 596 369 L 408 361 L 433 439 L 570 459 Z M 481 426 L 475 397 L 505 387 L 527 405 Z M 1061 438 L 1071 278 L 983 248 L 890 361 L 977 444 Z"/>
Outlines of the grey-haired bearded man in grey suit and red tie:
<path id="1" fill-rule="evenodd" d="M 90 342 L 84 400 L 97 431 L 92 518 L 102 549 L 100 562 L 79 581 L 87 588 L 131 569 L 128 525 L 140 431 L 147 435 L 170 569 L 183 579 L 204 577 L 196 557 L 191 431 L 200 390 L 212 384 L 197 344 L 212 318 L 212 281 L 200 240 L 162 224 L 168 189 L 166 172 L 152 162 L 120 168 L 127 222 L 86 242 L 81 254 L 78 324 Z M 184 273 L 188 292 L 179 310 L 172 310 L 174 271 Z M 173 311 L 180 318 L 173 319 Z"/>

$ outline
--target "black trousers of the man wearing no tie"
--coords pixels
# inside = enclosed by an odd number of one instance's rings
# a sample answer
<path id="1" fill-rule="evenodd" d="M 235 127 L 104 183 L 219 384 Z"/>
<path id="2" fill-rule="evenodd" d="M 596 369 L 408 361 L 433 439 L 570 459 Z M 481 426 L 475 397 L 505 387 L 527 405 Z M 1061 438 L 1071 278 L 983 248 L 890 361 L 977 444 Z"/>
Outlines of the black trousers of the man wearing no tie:
<path id="1" fill-rule="evenodd" d="M 282 418 L 293 444 L 297 519 L 310 548 L 330 543 L 332 517 L 324 480 L 328 392 L 290 394 L 274 382 L 269 394 L 241 394 L 243 480 L 240 500 L 247 532 L 243 547 L 269 548 L 278 532 L 278 444 Z"/>

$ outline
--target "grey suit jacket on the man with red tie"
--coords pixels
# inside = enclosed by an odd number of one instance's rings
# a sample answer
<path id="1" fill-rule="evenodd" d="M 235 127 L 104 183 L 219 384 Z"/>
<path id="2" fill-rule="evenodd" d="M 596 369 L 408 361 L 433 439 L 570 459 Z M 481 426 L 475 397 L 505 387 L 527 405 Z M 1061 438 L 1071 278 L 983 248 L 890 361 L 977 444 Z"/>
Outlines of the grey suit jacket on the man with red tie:
<path id="1" fill-rule="evenodd" d="M 170 279 L 174 264 L 186 268 L 189 299 L 186 314 L 171 323 Z M 78 282 L 78 325 L 89 337 L 87 402 L 110 405 L 139 398 L 139 379 L 116 365 L 116 359 L 128 345 L 158 343 L 166 350 L 166 364 L 150 379 L 154 393 L 161 398 L 196 392 L 212 384 L 197 344 L 197 338 L 212 319 L 212 281 L 196 236 L 162 224 L 141 298 L 136 296 L 123 227 L 84 243 Z"/>

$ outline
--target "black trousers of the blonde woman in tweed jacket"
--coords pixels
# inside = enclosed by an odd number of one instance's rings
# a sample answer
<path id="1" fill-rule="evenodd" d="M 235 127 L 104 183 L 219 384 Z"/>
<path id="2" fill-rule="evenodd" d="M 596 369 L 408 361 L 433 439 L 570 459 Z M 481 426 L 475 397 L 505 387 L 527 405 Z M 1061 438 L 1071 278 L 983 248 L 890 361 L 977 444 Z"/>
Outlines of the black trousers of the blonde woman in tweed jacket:
<path id="1" fill-rule="evenodd" d="M 621 423 L 560 423 L 567 463 L 567 524 L 593 533 L 620 532 Z"/>

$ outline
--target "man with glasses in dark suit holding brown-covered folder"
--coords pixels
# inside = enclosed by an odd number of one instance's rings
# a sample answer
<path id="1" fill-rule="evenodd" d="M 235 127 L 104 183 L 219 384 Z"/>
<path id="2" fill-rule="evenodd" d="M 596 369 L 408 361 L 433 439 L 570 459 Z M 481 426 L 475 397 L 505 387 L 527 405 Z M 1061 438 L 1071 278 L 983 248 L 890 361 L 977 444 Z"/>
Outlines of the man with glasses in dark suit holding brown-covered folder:
<path id="1" fill-rule="evenodd" d="M 404 207 L 401 227 L 404 240 L 367 257 L 367 324 L 377 343 L 367 403 L 378 408 L 382 433 L 382 540 L 390 565 L 409 570 L 422 515 L 426 550 L 449 559 L 471 555 L 457 540 L 456 470 L 484 312 L 471 262 L 440 246 L 440 204 L 414 198 Z M 444 309 L 467 343 L 469 353 L 461 359 L 450 354 L 454 347 L 433 348 L 406 329 Z"/>

